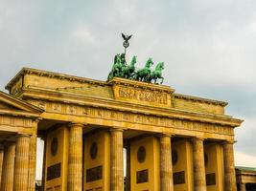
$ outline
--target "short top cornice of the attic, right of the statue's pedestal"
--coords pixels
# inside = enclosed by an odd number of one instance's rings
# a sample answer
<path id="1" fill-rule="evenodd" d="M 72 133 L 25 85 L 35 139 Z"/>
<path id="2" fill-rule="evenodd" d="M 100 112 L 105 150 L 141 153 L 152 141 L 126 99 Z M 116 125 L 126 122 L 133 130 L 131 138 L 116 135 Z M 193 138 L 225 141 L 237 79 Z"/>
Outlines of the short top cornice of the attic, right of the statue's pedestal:
<path id="1" fill-rule="evenodd" d="M 179 95 L 179 94 L 174 94 L 174 96 L 175 96 L 175 98 L 193 100 L 193 101 L 209 103 L 209 104 L 214 104 L 214 105 L 221 105 L 223 107 L 228 105 L 228 103 L 224 102 L 224 101 L 208 99 L 208 98 L 201 98 L 201 97 L 198 97 L 198 96 L 186 96 L 186 95 Z"/>

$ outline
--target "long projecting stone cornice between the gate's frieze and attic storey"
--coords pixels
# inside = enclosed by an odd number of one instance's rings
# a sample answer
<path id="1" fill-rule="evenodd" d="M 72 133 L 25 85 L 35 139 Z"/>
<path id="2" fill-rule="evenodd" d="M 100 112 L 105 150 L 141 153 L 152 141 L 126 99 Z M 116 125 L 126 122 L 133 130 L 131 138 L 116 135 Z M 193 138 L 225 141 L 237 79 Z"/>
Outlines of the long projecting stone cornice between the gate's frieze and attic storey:
<path id="1" fill-rule="evenodd" d="M 61 95 L 61 96 L 60 96 Z M 233 127 L 240 126 L 243 120 L 229 116 L 212 115 L 205 113 L 196 113 L 184 111 L 175 108 L 165 109 L 152 106 L 134 105 L 125 101 L 113 99 L 104 99 L 99 97 L 81 96 L 74 93 L 67 93 L 54 90 L 39 88 L 24 89 L 23 98 L 43 99 L 49 101 L 58 101 L 63 103 L 72 103 L 77 105 L 86 105 L 91 107 L 102 107 L 111 110 L 127 111 L 131 113 L 140 113 L 144 115 L 153 115 L 158 117 L 174 117 L 188 120 L 197 120 L 209 123 L 229 125 Z"/>

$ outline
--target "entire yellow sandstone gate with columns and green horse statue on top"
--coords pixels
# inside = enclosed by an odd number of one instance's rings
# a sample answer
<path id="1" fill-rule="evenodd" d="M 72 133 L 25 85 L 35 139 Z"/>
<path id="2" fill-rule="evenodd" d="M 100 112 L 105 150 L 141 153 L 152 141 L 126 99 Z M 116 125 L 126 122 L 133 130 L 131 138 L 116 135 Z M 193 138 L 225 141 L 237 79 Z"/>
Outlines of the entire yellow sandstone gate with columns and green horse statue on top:
<path id="1" fill-rule="evenodd" d="M 135 70 L 125 53 L 107 81 L 29 68 L 12 78 L 0 92 L 1 191 L 35 191 L 36 138 L 44 191 L 236 191 L 243 120 L 162 85 L 164 63 Z"/>

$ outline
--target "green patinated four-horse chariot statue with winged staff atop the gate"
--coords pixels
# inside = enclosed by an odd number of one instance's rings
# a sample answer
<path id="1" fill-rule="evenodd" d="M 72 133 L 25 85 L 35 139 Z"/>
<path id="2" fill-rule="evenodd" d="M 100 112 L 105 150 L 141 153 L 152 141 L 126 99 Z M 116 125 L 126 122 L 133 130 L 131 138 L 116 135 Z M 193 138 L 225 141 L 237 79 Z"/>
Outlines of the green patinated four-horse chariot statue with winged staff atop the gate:
<path id="1" fill-rule="evenodd" d="M 157 79 L 162 79 L 160 84 L 163 83 L 164 77 L 162 76 L 162 70 L 164 69 L 164 62 L 159 62 L 154 71 L 151 71 L 151 66 L 153 65 L 152 58 L 149 58 L 143 69 L 136 70 L 135 64 L 137 62 L 137 57 L 134 55 L 130 61 L 130 64 L 127 64 L 126 60 L 126 50 L 129 46 L 128 40 L 131 38 L 131 35 L 125 35 L 122 33 L 124 38 L 124 47 L 125 53 L 118 53 L 115 55 L 114 64 L 112 66 L 111 72 L 108 74 L 107 79 L 112 79 L 113 77 L 123 77 L 127 79 L 133 79 L 138 81 L 149 82 L 153 80 L 156 84 Z"/>

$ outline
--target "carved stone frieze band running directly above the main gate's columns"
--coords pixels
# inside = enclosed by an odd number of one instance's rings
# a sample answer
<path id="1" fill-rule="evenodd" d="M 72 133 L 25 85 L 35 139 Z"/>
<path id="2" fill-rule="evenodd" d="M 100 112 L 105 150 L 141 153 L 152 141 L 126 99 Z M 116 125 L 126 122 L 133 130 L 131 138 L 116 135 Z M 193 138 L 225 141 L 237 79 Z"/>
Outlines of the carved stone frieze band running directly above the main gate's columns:
<path id="1" fill-rule="evenodd" d="M 200 121 L 185 120 L 179 118 L 170 117 L 155 117 L 151 115 L 128 113 L 123 111 L 113 111 L 98 107 L 88 107 L 75 105 L 71 103 L 58 103 L 58 109 L 56 104 L 50 102 L 43 102 L 41 100 L 30 100 L 30 103 L 35 106 L 43 106 L 47 108 L 47 112 L 68 114 L 71 116 L 82 116 L 82 117 L 95 117 L 107 120 L 115 120 L 120 122 L 130 122 L 144 125 L 160 126 L 160 127 L 172 127 L 180 130 L 198 131 L 205 133 L 214 133 L 221 135 L 234 135 L 234 130 L 227 125 L 219 125 L 212 123 L 205 123 Z M 51 106 L 51 107 L 50 107 Z"/>

